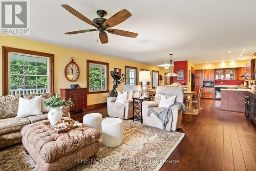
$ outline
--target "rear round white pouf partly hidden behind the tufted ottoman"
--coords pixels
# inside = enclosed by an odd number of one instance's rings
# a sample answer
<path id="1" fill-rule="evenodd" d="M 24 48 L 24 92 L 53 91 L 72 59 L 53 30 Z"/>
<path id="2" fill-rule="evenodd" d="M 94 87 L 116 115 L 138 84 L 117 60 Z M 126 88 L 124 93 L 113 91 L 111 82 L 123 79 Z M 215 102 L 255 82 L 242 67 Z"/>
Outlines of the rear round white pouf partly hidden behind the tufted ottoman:
<path id="1" fill-rule="evenodd" d="M 99 113 L 86 114 L 82 118 L 83 124 L 90 126 L 101 132 L 102 115 Z"/>

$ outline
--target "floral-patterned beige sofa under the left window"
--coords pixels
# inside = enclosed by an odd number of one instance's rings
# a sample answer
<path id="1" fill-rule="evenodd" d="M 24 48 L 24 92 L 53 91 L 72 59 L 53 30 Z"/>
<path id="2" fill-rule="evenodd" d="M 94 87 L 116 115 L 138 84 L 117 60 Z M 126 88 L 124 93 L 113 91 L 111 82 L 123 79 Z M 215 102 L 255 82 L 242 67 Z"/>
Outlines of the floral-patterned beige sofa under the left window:
<path id="1" fill-rule="evenodd" d="M 42 95 L 44 98 L 50 98 L 53 93 L 33 94 L 33 95 L 11 95 L 0 96 L 0 148 L 22 142 L 20 130 L 30 123 L 47 119 L 47 113 L 42 115 L 33 115 L 24 118 L 16 118 L 18 111 L 19 97 L 34 98 L 35 95 Z M 70 118 L 70 106 L 62 108 L 63 116 Z"/>

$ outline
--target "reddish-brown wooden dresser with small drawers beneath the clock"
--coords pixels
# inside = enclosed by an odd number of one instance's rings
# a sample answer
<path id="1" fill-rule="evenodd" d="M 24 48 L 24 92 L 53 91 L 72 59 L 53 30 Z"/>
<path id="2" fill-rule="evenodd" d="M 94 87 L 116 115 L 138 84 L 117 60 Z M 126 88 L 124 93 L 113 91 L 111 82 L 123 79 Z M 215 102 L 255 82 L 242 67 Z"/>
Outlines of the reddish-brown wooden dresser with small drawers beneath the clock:
<path id="1" fill-rule="evenodd" d="M 70 111 L 85 111 L 87 112 L 87 89 L 60 89 L 62 99 L 73 101 L 74 106 Z"/>

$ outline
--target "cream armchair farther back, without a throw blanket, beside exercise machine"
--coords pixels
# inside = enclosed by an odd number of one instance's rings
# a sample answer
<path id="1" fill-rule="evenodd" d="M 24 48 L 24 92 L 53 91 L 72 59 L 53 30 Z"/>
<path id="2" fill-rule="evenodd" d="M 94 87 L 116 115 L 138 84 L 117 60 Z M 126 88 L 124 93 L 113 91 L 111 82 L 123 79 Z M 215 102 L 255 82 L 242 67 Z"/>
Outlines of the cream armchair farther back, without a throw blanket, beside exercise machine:
<path id="1" fill-rule="evenodd" d="M 127 92 L 133 91 L 133 97 L 141 96 L 141 86 L 123 86 L 123 90 Z M 116 97 L 108 97 L 108 115 L 120 119 L 129 119 L 133 117 L 133 100 L 127 99 L 124 103 L 115 103 Z"/>

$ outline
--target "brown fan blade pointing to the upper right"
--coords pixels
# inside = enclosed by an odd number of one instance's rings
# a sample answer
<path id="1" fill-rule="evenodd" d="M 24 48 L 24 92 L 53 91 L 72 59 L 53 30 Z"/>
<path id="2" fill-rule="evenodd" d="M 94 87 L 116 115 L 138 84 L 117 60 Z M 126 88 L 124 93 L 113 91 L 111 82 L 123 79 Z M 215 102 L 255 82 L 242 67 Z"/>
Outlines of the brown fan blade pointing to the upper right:
<path id="1" fill-rule="evenodd" d="M 115 15 L 113 15 L 112 17 L 110 17 L 109 19 L 107 19 L 103 23 L 103 27 L 106 27 L 106 28 L 114 27 L 122 23 L 124 20 L 128 19 L 130 16 L 132 16 L 132 14 L 126 9 L 123 9 L 118 13 L 116 13 Z"/>

